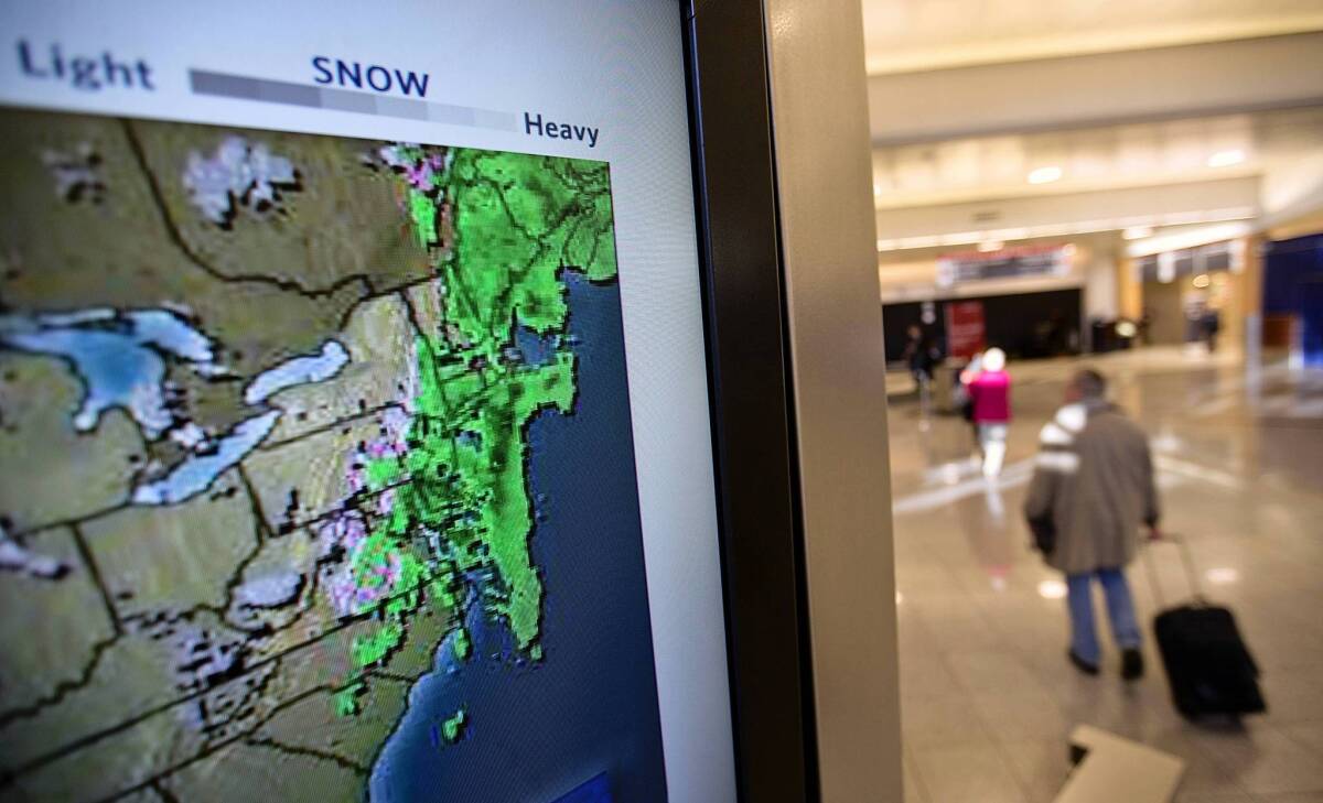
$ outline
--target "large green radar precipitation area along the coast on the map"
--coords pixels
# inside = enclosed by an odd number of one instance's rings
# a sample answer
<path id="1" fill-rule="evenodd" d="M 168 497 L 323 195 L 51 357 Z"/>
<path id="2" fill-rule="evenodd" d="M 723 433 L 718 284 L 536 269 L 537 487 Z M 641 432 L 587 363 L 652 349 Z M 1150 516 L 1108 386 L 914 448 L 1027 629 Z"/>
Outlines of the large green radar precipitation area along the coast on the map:
<path id="1" fill-rule="evenodd" d="M 421 605 L 419 589 L 454 610 L 459 578 L 484 569 L 503 590 L 495 610 L 536 659 L 542 584 L 528 549 L 527 428 L 541 411 L 572 412 L 576 357 L 561 341 L 531 363 L 516 334 L 564 337 L 564 271 L 615 277 L 607 169 L 409 145 L 381 157 L 405 182 L 418 243 L 435 259 L 439 318 L 414 346 L 402 440 L 372 444 L 361 468 L 363 490 L 386 502 L 355 553 L 352 596 L 382 600 L 385 621 L 356 642 L 355 662 L 378 664 L 402 642 L 397 622 Z"/>

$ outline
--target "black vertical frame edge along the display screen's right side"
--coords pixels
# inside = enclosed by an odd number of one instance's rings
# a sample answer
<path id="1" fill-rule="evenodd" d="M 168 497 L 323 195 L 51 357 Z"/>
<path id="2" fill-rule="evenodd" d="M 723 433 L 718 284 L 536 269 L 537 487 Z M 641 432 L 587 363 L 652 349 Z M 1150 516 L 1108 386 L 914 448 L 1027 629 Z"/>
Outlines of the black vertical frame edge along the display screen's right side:
<path id="1" fill-rule="evenodd" d="M 762 0 L 681 3 L 736 771 L 819 799 L 794 396 Z"/>

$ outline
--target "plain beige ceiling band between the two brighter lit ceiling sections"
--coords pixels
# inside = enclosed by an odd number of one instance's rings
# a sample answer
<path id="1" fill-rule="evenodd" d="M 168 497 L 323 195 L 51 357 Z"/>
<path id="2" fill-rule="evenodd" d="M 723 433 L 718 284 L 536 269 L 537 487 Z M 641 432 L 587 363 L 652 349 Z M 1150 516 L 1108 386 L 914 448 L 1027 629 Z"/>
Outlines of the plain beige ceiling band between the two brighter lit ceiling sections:
<path id="1" fill-rule="evenodd" d="M 1323 32 L 872 75 L 868 102 L 878 145 L 1320 104 Z"/>

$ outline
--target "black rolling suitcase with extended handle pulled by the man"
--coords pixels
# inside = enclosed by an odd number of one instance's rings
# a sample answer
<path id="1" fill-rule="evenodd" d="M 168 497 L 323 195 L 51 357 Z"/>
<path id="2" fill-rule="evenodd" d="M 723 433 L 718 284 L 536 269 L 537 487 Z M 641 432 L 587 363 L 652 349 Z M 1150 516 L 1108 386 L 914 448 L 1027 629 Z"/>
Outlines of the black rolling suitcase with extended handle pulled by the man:
<path id="1" fill-rule="evenodd" d="M 1258 688 L 1258 666 L 1236 627 L 1236 617 L 1226 608 L 1204 598 L 1189 547 L 1184 539 L 1171 540 L 1180 548 L 1181 564 L 1195 594 L 1189 604 L 1168 608 L 1154 617 L 1154 635 L 1176 711 L 1188 720 L 1262 713 L 1267 705 Z M 1162 590 L 1147 556 L 1144 565 L 1154 597 L 1162 608 Z"/>

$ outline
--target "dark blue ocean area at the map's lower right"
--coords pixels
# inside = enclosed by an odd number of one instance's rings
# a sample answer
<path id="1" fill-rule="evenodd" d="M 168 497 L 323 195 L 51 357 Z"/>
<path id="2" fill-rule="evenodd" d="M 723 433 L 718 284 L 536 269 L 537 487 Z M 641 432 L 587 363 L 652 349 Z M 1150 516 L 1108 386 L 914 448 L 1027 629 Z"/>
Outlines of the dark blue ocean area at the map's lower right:
<path id="1" fill-rule="evenodd" d="M 467 663 L 442 648 L 373 767 L 376 803 L 552 803 L 599 775 L 607 796 L 585 803 L 667 799 L 619 291 L 577 273 L 566 284 L 577 407 L 529 428 L 545 658 L 516 658 L 496 622 L 471 627 Z M 437 744 L 434 726 L 460 708 L 463 738 Z"/>

